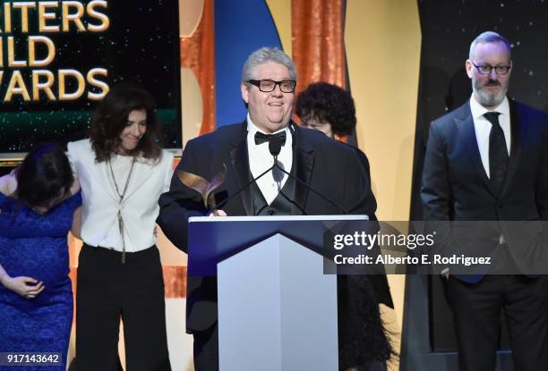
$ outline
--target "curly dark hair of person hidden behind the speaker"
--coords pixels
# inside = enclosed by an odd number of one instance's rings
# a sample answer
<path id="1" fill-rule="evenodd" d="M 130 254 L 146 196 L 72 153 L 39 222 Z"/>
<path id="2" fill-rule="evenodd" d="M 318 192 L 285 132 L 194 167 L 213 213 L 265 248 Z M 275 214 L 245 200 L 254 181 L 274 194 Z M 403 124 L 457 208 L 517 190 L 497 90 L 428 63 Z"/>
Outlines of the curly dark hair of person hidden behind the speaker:
<path id="1" fill-rule="evenodd" d="M 339 136 L 350 135 L 355 128 L 354 99 L 347 90 L 327 82 L 310 84 L 299 94 L 296 114 L 304 122 L 329 122 L 331 131 Z"/>

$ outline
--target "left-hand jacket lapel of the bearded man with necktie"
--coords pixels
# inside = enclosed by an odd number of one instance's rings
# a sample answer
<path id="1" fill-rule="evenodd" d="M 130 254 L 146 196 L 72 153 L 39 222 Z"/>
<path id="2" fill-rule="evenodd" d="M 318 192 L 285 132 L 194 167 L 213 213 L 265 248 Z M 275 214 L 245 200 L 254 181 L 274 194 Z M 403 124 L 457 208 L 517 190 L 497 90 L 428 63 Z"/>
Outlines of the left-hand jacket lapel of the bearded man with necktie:
<path id="1" fill-rule="evenodd" d="M 492 193 L 496 198 L 497 194 L 494 188 L 492 187 L 491 181 L 485 173 L 484 164 L 482 164 L 482 158 L 477 148 L 477 139 L 475 138 L 474 130 L 474 119 L 472 118 L 472 112 L 470 111 L 469 102 L 463 107 L 462 114 L 458 114 L 454 121 L 457 125 L 458 136 L 460 140 L 464 143 L 467 148 L 468 156 L 472 164 L 474 165 L 476 173 L 484 181 L 485 187 Z"/>

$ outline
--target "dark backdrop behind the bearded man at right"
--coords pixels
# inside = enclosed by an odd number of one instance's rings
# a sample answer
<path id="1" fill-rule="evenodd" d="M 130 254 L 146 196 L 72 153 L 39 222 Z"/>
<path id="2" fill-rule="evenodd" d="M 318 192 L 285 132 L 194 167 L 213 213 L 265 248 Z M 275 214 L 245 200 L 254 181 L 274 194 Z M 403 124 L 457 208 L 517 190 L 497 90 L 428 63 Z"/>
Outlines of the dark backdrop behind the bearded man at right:
<path id="1" fill-rule="evenodd" d="M 470 43 L 493 30 L 512 46 L 514 68 L 509 97 L 548 111 L 548 1 L 418 1 L 421 30 L 421 70 L 415 131 L 411 219 L 422 219 L 419 195 L 424 147 L 432 120 L 462 105 L 472 93 L 465 71 Z M 450 309 L 439 277 L 424 282 L 428 292 L 431 350 L 456 350 Z M 504 326 L 504 321 L 502 321 Z M 506 349 L 506 331 L 500 348 Z"/>

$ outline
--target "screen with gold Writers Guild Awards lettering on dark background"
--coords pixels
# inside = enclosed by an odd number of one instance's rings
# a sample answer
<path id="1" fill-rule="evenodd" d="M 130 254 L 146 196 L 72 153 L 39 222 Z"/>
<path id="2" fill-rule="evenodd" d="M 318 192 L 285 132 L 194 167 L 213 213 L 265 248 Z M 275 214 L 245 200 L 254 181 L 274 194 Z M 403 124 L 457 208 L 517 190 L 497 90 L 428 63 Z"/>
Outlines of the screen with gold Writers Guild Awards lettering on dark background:
<path id="1" fill-rule="evenodd" d="M 150 90 L 163 145 L 181 147 L 177 0 L 3 2 L 0 158 L 87 137 L 114 85 Z"/>

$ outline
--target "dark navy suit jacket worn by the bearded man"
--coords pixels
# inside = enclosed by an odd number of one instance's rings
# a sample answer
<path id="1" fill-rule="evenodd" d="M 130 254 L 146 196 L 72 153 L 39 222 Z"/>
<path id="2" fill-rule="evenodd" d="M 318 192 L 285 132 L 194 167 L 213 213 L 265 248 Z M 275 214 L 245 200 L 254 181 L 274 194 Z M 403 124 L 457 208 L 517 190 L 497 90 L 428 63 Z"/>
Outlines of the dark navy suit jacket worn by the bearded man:
<path id="1" fill-rule="evenodd" d="M 548 219 L 548 116 L 511 100 L 509 106 L 511 148 L 501 194 L 496 193 L 485 173 L 468 101 L 432 122 L 424 157 L 421 198 L 426 221 L 494 222 L 482 223 L 480 228 L 474 227 L 474 231 L 456 233 L 453 229 L 447 245 L 455 245 L 459 237 L 466 240 L 473 234 L 482 240 L 482 246 L 486 243 L 493 251 L 503 234 L 511 256 L 523 272 L 537 257 L 533 250 L 524 251 L 533 249 L 534 244 L 516 238 L 516 231 L 505 234 L 508 231 L 501 231 L 504 224 L 501 221 Z M 539 232 L 539 223 L 523 225 L 534 231 L 520 231 L 521 237 Z M 457 246 L 448 246 L 448 249 L 458 251 Z M 483 274 L 479 274 L 461 279 L 477 282 L 482 277 Z"/>

